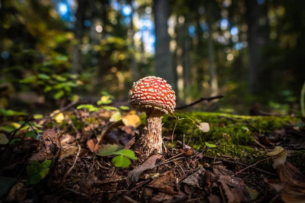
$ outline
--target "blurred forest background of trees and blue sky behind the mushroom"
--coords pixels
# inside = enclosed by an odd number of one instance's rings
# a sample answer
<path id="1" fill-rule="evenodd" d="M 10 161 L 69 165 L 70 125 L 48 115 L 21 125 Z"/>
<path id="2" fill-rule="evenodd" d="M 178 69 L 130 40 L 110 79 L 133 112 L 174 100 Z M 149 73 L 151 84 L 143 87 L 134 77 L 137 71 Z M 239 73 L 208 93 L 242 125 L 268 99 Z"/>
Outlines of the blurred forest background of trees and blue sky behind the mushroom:
<path id="1" fill-rule="evenodd" d="M 256 104 L 299 114 L 304 7 L 288 0 L 0 0 L 0 109 L 38 114 L 109 94 L 126 102 L 133 82 L 156 75 L 180 105 L 223 94 L 205 110 L 248 114 Z"/>

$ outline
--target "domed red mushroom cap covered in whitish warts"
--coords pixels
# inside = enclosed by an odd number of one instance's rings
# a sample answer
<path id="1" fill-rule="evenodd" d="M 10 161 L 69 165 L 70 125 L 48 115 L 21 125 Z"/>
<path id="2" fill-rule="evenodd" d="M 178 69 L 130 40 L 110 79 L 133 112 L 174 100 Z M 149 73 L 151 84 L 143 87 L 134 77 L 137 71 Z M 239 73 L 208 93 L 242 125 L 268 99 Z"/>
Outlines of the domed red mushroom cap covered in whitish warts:
<path id="1" fill-rule="evenodd" d="M 140 112 L 147 108 L 156 108 L 167 113 L 174 112 L 176 96 L 166 80 L 148 76 L 134 83 L 129 90 L 129 104 Z"/>

